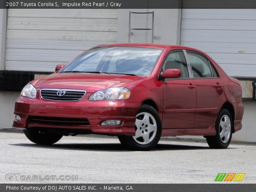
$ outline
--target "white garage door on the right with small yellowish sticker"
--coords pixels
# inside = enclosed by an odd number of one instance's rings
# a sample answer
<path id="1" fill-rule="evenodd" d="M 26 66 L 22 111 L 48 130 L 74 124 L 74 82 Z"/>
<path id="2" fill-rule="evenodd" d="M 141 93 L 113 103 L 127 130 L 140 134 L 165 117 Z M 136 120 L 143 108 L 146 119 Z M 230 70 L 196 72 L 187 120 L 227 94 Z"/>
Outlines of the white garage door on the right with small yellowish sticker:
<path id="1" fill-rule="evenodd" d="M 180 44 L 208 53 L 230 76 L 256 77 L 256 10 L 183 9 Z"/>

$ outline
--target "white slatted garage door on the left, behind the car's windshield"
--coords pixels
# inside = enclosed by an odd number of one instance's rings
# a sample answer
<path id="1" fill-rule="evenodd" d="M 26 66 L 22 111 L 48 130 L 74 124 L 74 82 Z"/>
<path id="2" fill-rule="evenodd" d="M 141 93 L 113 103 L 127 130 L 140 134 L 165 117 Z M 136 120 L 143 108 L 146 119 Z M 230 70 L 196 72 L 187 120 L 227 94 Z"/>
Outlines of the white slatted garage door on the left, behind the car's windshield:
<path id="1" fill-rule="evenodd" d="M 117 10 L 8 10 L 6 70 L 52 72 L 84 50 L 116 42 Z"/>

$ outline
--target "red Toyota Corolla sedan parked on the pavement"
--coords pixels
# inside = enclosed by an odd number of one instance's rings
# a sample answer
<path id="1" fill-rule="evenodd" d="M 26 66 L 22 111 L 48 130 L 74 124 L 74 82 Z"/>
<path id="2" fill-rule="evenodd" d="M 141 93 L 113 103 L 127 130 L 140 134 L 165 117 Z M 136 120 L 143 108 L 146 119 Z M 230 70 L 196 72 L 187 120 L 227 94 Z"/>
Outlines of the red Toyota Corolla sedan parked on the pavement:
<path id="1" fill-rule="evenodd" d="M 227 148 L 242 128 L 242 88 L 200 50 L 158 44 L 94 47 L 27 84 L 15 128 L 34 143 L 107 134 L 149 150 L 161 136 L 202 135 Z"/>

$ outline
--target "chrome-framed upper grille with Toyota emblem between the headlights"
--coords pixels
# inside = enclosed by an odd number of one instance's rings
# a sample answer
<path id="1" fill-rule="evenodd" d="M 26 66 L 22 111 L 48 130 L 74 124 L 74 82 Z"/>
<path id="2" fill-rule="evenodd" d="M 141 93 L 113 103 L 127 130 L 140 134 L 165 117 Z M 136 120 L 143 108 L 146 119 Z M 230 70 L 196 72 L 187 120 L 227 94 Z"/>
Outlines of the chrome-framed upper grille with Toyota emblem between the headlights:
<path id="1" fill-rule="evenodd" d="M 40 95 L 44 100 L 78 101 L 86 94 L 85 90 L 74 89 L 41 89 Z"/>

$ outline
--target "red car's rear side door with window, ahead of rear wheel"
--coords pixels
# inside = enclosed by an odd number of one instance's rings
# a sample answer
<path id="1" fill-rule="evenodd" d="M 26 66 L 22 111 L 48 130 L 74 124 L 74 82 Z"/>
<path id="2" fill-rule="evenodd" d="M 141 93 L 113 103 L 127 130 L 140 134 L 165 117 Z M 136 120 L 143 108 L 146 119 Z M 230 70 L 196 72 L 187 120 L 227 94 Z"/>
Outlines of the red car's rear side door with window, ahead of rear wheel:
<path id="1" fill-rule="evenodd" d="M 215 120 L 222 104 L 222 80 L 210 61 L 198 52 L 187 50 L 196 85 L 196 114 L 194 128 L 208 128 Z"/>

